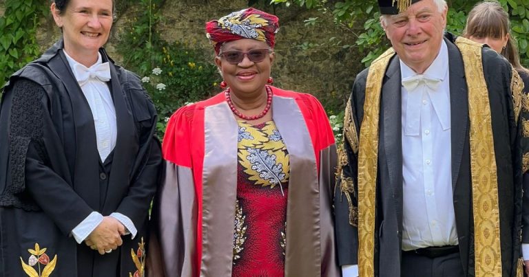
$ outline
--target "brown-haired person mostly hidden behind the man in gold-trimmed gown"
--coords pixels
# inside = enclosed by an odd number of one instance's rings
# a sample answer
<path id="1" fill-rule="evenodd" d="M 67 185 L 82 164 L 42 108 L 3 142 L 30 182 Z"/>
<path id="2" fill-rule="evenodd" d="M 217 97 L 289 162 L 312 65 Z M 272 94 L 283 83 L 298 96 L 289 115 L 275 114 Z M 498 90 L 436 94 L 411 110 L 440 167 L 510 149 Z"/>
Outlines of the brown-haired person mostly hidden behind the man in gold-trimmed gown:
<path id="1" fill-rule="evenodd" d="M 527 96 L 529 91 L 529 70 L 520 64 L 516 41 L 510 34 L 509 14 L 504 8 L 501 8 L 499 2 L 483 1 L 477 3 L 468 12 L 463 36 L 478 43 L 485 43 L 504 56 L 512 67 L 516 69 L 521 80 L 523 80 L 523 95 Z M 523 124 L 529 123 L 525 122 Z M 527 153 L 523 154 L 529 155 Z M 527 167 L 524 166 L 523 190 L 529 192 L 529 175 L 525 174 L 526 170 Z M 529 193 L 525 193 L 523 197 L 529 198 Z M 525 228 L 522 230 L 521 252 L 525 263 L 525 272 L 529 274 L 529 213 L 524 212 L 522 214 L 522 226 Z"/>

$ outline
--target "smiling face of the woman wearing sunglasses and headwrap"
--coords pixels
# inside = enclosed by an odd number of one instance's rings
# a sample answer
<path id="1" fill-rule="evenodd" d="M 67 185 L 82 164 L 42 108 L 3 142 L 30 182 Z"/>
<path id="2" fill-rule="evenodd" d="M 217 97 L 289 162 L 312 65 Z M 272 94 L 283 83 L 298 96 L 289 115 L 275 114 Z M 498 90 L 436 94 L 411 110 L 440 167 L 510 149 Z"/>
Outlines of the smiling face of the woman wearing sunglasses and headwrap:
<path id="1" fill-rule="evenodd" d="M 256 41 L 254 39 L 242 38 L 237 41 L 230 41 L 222 45 L 220 54 L 227 51 L 249 52 L 251 49 L 269 48 L 267 43 Z M 259 96 L 260 93 L 266 93 L 264 85 L 270 77 L 270 70 L 275 54 L 270 52 L 261 62 L 254 63 L 249 60 L 248 56 L 242 59 L 238 64 L 231 64 L 223 56 L 217 56 L 215 63 L 222 72 L 227 85 L 233 93 L 244 98 Z"/>

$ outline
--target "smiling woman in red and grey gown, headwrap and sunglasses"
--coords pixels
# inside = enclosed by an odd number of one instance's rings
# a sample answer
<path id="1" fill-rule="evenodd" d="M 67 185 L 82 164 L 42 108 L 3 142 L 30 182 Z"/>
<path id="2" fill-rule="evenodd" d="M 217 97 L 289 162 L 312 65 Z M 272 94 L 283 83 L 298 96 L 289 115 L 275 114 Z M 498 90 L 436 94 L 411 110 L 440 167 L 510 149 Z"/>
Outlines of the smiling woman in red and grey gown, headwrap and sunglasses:
<path id="1" fill-rule="evenodd" d="M 253 8 L 206 24 L 226 89 L 169 120 L 152 276 L 340 276 L 333 132 L 316 98 L 271 85 L 278 27 Z"/>

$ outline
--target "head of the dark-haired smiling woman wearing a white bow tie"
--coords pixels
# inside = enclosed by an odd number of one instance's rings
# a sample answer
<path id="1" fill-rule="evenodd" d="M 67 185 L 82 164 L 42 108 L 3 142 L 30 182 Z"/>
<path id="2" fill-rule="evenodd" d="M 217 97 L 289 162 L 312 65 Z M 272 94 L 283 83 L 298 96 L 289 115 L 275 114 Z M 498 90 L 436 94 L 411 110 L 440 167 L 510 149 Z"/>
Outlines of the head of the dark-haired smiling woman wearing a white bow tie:
<path id="1" fill-rule="evenodd" d="M 74 60 L 93 65 L 112 27 L 112 0 L 71 0 L 63 10 L 52 3 L 53 19 L 63 30 L 64 49 Z"/>

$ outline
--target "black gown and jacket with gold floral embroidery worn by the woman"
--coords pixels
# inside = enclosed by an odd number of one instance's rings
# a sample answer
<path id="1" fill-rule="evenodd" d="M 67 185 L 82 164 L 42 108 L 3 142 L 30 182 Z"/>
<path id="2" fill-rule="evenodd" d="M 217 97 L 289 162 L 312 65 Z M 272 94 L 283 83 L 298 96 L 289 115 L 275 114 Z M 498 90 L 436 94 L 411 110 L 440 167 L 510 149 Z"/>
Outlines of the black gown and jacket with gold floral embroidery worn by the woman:
<path id="1" fill-rule="evenodd" d="M 116 146 L 103 164 L 90 107 L 62 48 L 59 41 L 4 88 L 0 276 L 136 276 L 162 163 L 156 110 L 138 76 L 101 49 L 103 62 L 110 61 L 117 123 Z M 78 245 L 70 232 L 93 211 L 124 214 L 138 234 L 123 236 L 111 254 Z"/>

